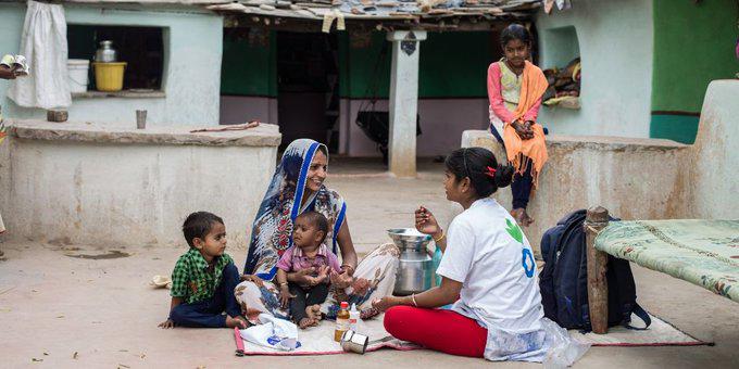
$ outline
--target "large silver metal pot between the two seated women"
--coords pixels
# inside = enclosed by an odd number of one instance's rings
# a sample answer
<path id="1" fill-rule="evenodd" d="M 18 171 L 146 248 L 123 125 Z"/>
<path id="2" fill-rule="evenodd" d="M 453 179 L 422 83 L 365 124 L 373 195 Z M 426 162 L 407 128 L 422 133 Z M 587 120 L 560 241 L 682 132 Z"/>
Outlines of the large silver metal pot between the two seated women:
<path id="1" fill-rule="evenodd" d="M 400 264 L 393 294 L 410 295 L 431 288 L 434 263 L 426 252 L 431 237 L 414 228 L 388 229 L 392 242 L 400 249 Z"/>

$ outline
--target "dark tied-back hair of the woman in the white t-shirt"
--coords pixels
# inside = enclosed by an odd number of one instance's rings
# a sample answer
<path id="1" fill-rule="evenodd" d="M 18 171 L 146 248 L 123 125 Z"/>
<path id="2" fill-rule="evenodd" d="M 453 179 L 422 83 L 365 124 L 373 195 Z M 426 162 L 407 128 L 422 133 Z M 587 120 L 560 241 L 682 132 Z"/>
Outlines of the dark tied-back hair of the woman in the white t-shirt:
<path id="1" fill-rule="evenodd" d="M 444 165 L 454 175 L 455 181 L 468 177 L 480 199 L 511 184 L 513 180 L 513 167 L 498 164 L 496 155 L 483 148 L 454 150 L 447 156 Z M 490 169 L 494 169 L 494 174 Z"/>

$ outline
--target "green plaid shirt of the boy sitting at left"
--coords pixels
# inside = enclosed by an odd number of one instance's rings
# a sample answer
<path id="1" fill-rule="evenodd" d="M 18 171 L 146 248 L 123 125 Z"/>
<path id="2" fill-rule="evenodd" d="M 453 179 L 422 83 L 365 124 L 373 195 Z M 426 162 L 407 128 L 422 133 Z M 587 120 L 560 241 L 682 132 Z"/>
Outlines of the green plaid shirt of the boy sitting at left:
<path id="1" fill-rule="evenodd" d="M 175 269 L 172 271 L 173 297 L 181 297 L 185 303 L 199 303 L 213 297 L 215 289 L 221 283 L 223 269 L 234 263 L 228 254 L 223 254 L 215 259 L 212 271 L 208 270 L 208 262 L 198 249 L 190 249 L 177 259 Z"/>

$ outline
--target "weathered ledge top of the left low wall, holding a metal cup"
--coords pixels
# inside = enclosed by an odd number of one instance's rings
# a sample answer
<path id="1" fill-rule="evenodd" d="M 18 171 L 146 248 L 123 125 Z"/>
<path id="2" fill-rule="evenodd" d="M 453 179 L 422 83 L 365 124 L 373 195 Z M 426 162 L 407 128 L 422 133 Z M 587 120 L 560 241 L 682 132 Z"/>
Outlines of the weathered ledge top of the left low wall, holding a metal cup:
<path id="1" fill-rule="evenodd" d="M 209 147 L 277 147 L 281 140 L 278 126 L 261 124 L 247 130 L 197 132 L 205 126 L 164 126 L 136 129 L 95 123 L 50 123 L 45 120 L 5 120 L 9 136 L 24 140 L 74 141 L 110 144 L 168 144 Z M 217 128 L 218 126 L 210 126 Z"/>

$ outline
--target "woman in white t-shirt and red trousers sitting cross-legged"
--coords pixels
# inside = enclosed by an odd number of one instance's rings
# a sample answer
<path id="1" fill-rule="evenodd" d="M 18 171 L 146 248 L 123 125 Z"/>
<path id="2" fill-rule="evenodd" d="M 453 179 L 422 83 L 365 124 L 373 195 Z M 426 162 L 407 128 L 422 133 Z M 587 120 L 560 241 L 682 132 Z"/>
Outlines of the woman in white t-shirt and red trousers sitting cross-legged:
<path id="1" fill-rule="evenodd" d="M 483 148 L 456 150 L 444 164 L 447 199 L 464 212 L 446 233 L 428 209 L 415 212 L 416 229 L 443 252 L 441 284 L 375 301 L 386 310 L 385 329 L 430 349 L 489 360 L 542 361 L 548 352 L 566 349 L 567 332 L 543 317 L 531 246 L 490 198 L 511 183 L 513 168 Z"/>

